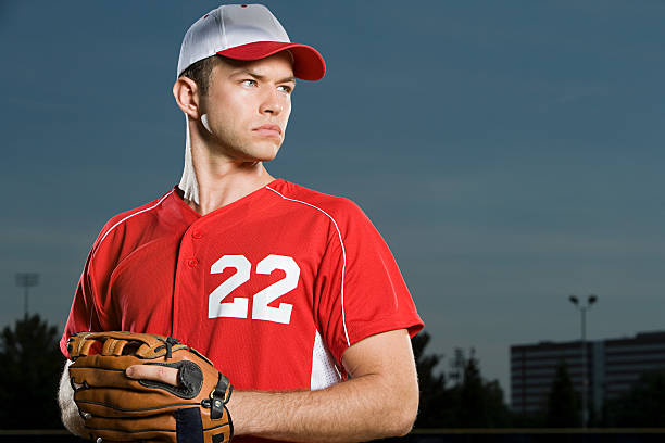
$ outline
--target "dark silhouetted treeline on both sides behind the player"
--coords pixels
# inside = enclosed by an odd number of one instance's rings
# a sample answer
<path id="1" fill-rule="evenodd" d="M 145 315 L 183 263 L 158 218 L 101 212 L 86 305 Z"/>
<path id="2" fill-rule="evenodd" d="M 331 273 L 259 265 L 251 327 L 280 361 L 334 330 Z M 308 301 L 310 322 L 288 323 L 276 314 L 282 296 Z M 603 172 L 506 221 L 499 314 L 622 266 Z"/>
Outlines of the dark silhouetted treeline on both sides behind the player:
<path id="1" fill-rule="evenodd" d="M 580 402 L 565 366 L 560 366 L 547 407 L 517 415 L 497 380 L 485 380 L 473 350 L 456 349 L 448 369 L 427 354 L 430 336 L 412 340 L 421 384 L 416 428 L 568 428 L 580 426 Z M 57 390 L 64 357 L 60 332 L 39 315 L 5 327 L 0 337 L 0 429 L 62 429 Z M 396 405 L 399 407 L 399 405 Z M 645 372 L 622 397 L 607 402 L 591 427 L 665 427 L 665 371 Z"/>

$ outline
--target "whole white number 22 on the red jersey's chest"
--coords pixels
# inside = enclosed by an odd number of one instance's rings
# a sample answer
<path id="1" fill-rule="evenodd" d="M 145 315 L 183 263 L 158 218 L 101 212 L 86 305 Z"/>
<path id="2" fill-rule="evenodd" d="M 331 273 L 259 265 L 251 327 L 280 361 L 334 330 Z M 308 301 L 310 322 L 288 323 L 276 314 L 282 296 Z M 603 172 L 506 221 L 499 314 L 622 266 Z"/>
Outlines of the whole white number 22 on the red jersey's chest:
<path id="1" fill-rule="evenodd" d="M 234 298 L 233 302 L 222 302 L 234 290 L 250 279 L 252 264 L 244 255 L 224 255 L 210 268 L 211 274 L 222 274 L 224 269 L 233 267 L 236 274 L 219 284 L 208 299 L 208 317 L 233 317 L 247 318 L 249 306 L 248 299 L 243 296 Z M 274 321 L 288 325 L 291 321 L 293 305 L 279 303 L 279 307 L 268 306 L 269 303 L 298 287 L 300 279 L 300 267 L 291 257 L 271 254 L 256 265 L 256 274 L 271 275 L 280 269 L 286 276 L 259 291 L 252 296 L 252 319 Z"/>

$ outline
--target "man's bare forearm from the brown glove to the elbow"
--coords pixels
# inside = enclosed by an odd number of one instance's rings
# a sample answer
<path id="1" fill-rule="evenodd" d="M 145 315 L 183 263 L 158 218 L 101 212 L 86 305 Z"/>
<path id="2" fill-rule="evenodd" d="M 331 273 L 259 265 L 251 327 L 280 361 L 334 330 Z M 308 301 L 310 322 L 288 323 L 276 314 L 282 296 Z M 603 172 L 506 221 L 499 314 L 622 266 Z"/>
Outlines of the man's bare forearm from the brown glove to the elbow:
<path id="1" fill-rule="evenodd" d="M 238 435 L 275 440 L 359 442 L 403 435 L 417 412 L 417 388 L 400 393 L 378 375 L 366 375 L 321 391 L 239 391 L 228 409 Z"/>

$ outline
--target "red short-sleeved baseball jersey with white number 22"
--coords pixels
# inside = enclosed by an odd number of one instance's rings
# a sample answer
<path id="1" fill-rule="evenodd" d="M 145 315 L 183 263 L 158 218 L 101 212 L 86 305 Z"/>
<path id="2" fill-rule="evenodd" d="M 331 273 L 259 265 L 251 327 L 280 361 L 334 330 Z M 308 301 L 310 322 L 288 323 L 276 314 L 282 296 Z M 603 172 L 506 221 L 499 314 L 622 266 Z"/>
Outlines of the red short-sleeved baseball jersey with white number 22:
<path id="1" fill-rule="evenodd" d="M 385 241 L 351 201 L 277 179 L 204 216 L 175 187 L 113 217 L 60 342 L 81 330 L 172 336 L 236 389 L 343 380 L 357 341 L 423 327 Z"/>

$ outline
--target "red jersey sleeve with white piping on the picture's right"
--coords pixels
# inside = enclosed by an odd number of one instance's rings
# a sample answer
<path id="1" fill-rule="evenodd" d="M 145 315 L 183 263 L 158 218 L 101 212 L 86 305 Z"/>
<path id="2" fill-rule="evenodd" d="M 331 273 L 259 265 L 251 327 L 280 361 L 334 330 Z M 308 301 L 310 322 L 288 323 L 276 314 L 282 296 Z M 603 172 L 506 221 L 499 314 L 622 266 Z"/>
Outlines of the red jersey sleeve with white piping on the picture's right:
<path id="1" fill-rule="evenodd" d="M 388 245 L 355 204 L 344 201 L 332 226 L 316 281 L 318 322 L 337 362 L 352 344 L 423 320 Z"/>

